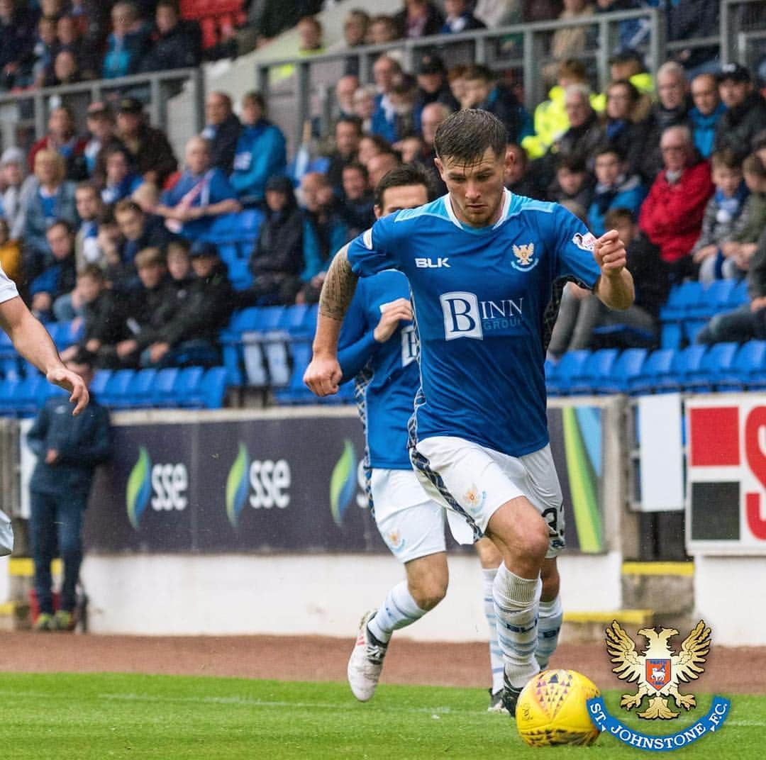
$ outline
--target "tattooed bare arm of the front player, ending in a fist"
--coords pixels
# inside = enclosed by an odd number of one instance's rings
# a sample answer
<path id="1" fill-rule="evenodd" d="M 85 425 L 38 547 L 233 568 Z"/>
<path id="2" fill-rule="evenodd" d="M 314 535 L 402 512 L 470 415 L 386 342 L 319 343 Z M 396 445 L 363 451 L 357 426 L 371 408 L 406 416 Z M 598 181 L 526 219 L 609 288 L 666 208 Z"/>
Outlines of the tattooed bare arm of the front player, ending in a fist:
<path id="1" fill-rule="evenodd" d="M 314 336 L 314 355 L 303 382 L 317 396 L 338 393 L 342 371 L 338 363 L 338 336 L 345 312 L 354 297 L 357 277 L 351 270 L 349 246 L 343 246 L 327 271 L 319 295 L 319 318 Z"/>

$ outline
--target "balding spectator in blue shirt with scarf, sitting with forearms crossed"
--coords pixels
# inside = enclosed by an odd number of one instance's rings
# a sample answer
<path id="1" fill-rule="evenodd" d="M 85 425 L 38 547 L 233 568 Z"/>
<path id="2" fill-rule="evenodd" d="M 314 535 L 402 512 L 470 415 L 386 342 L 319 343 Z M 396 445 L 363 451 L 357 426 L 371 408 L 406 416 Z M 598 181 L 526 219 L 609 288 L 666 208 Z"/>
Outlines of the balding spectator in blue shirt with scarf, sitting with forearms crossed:
<path id="1" fill-rule="evenodd" d="M 204 137 L 186 143 L 185 157 L 184 173 L 172 190 L 162 194 L 155 214 L 165 217 L 172 232 L 195 239 L 209 230 L 215 217 L 242 207 L 227 175 L 212 165 L 210 143 Z"/>

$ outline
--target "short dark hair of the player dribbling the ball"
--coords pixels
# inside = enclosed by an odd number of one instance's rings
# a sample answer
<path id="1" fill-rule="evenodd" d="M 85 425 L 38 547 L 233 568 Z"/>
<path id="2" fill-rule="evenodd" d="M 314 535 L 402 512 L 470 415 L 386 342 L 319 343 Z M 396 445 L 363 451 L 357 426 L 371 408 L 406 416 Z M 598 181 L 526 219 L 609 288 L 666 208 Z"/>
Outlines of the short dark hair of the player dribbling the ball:
<path id="1" fill-rule="evenodd" d="M 476 164 L 487 148 L 496 156 L 506 155 L 508 131 L 500 119 L 489 111 L 458 111 L 437 127 L 434 149 L 441 158 L 457 158 L 465 164 Z"/>

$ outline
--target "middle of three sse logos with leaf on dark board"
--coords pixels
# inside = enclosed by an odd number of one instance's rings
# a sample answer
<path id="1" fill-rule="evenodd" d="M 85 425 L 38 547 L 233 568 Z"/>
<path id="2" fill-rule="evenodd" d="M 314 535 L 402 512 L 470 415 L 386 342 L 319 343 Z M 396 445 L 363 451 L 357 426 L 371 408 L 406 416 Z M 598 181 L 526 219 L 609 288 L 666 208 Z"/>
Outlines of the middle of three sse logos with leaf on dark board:
<path id="1" fill-rule="evenodd" d="M 251 462 L 247 446 L 240 443 L 226 479 L 226 515 L 231 526 L 237 527 L 247 503 L 253 509 L 286 509 L 290 504 L 291 483 L 290 464 L 286 459 Z"/>

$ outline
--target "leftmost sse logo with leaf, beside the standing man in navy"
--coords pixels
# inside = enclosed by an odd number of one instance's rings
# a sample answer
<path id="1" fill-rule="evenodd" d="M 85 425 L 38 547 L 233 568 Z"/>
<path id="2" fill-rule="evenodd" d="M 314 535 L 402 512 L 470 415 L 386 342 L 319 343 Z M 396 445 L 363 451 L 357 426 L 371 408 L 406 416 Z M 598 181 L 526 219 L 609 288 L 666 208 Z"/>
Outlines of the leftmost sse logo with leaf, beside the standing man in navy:
<path id="1" fill-rule="evenodd" d="M 188 471 L 183 464 L 152 465 L 146 446 L 139 446 L 139 458 L 128 477 L 126 503 L 128 519 L 139 529 L 141 515 L 149 504 L 156 512 L 178 510 L 188 506 Z"/>

